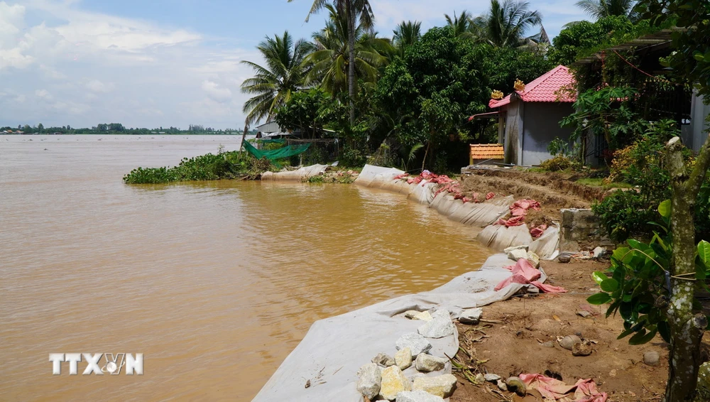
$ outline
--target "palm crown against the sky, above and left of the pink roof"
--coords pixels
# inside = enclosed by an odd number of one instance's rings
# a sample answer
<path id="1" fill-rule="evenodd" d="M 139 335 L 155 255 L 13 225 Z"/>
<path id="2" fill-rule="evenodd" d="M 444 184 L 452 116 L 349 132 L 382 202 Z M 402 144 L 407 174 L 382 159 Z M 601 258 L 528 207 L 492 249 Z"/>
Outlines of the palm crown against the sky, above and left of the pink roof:
<path id="1" fill-rule="evenodd" d="M 530 11 L 527 1 L 491 0 L 488 14 L 476 17 L 472 21 L 472 30 L 484 42 L 498 47 L 530 45 L 540 41 L 542 31 L 533 36 L 525 36 L 531 28 L 542 26 L 542 15 Z"/>

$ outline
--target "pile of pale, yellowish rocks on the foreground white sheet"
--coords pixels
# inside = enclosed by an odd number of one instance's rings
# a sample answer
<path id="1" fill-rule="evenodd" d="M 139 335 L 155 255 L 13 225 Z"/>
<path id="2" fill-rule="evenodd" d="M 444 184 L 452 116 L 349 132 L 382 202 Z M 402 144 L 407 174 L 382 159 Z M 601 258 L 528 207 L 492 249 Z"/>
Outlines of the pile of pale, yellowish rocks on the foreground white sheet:
<path id="1" fill-rule="evenodd" d="M 450 368 L 447 366 L 449 359 L 429 353 L 432 344 L 427 338 L 453 335 L 456 327 L 447 310 L 435 310 L 433 313 L 411 310 L 405 316 L 412 320 L 422 320 L 424 324 L 417 332 L 410 332 L 397 339 L 394 357 L 379 353 L 371 363 L 361 366 L 357 374 L 357 390 L 370 401 L 443 402 L 444 398 L 454 393 L 456 377 L 452 374 L 424 375 Z M 416 374 L 409 379 L 403 370 L 412 366 Z"/>

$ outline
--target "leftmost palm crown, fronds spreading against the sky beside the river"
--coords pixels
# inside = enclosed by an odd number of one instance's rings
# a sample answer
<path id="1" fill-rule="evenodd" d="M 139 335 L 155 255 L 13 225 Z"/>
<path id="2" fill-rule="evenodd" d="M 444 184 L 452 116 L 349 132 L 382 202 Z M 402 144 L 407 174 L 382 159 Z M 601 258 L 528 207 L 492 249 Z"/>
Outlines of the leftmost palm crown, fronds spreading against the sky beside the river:
<path id="1" fill-rule="evenodd" d="M 302 63 L 313 45 L 302 39 L 294 44 L 293 38 L 285 31 L 282 37 L 267 36 L 256 48 L 266 61 L 266 67 L 251 61 L 241 62 L 251 66 L 256 73 L 241 84 L 242 92 L 256 95 L 244 103 L 247 126 L 264 117 L 271 119 L 276 108 L 288 102 L 293 92 L 304 87 L 307 71 Z"/>

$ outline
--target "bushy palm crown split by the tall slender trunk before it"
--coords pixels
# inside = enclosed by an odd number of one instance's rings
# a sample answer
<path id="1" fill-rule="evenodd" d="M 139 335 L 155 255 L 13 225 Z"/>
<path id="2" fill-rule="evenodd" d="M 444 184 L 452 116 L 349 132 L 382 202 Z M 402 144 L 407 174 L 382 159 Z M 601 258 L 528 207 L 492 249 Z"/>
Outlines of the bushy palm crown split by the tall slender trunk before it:
<path id="1" fill-rule="evenodd" d="M 350 70 L 349 54 L 349 23 L 342 13 L 338 13 L 330 4 L 325 6 L 330 12 L 325 28 L 313 33 L 313 42 L 317 50 L 308 55 L 304 65 L 309 72 L 306 84 L 312 85 L 320 82 L 327 92 L 333 95 L 349 89 L 348 74 Z M 375 34 L 368 33 L 362 23 L 355 27 L 354 32 L 354 72 L 352 82 L 359 80 L 366 85 L 377 81 L 378 68 L 386 65 L 388 53 L 393 53 L 392 46 L 387 39 L 377 38 Z"/>

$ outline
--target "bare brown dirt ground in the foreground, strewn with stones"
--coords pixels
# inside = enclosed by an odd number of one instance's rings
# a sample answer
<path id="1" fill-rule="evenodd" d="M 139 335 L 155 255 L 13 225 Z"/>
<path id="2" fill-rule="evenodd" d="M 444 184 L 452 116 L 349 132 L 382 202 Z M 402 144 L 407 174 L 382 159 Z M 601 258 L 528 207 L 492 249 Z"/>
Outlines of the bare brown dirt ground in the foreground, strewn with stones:
<path id="1" fill-rule="evenodd" d="M 503 379 L 546 372 L 547 376 L 558 374 L 567 384 L 591 378 L 599 391 L 608 393 L 609 401 L 660 401 L 667 379 L 667 344 L 660 336 L 639 346 L 629 345 L 628 339 L 617 340 L 623 330 L 621 317 L 606 318 L 606 306 L 586 303 L 586 298 L 598 291 L 591 273 L 607 266 L 596 261 L 543 261 L 542 268 L 549 276 L 547 283 L 562 286 L 569 293 L 516 297 L 485 306 L 482 318 L 494 323 L 457 324 L 461 347 L 471 354 L 466 356 L 459 349 L 457 358 L 473 366 L 478 362 L 479 372 L 498 374 Z M 577 315 L 585 309 L 597 314 L 586 318 Z M 574 357 L 556 342 L 557 337 L 575 334 L 596 342 L 591 355 Z M 548 341 L 554 347 L 542 345 Z M 709 346 L 710 335 L 706 335 L 704 350 Z M 644 364 L 643 354 L 648 351 L 660 354 L 657 366 Z M 474 376 L 475 373 L 476 370 Z M 496 384 L 476 386 L 461 371 L 454 374 L 459 382 L 452 402 L 542 401 L 535 391 L 525 398 L 510 392 L 496 393 Z"/>

